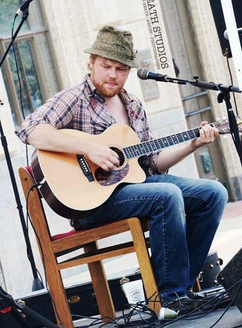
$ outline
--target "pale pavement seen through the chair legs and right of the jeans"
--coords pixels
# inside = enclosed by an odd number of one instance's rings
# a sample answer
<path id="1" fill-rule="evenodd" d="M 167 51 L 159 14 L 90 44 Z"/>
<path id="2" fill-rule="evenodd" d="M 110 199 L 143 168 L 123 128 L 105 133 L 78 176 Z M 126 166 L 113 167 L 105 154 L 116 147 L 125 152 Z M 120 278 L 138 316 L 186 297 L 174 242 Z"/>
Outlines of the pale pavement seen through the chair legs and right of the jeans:
<path id="1" fill-rule="evenodd" d="M 221 223 L 216 232 L 211 251 L 217 251 L 222 258 L 223 265 L 228 263 L 233 255 L 242 247 L 242 201 L 230 202 L 226 205 Z M 139 266 L 135 253 L 104 260 L 107 279 L 128 275 Z M 85 270 L 78 275 L 66 278 L 65 285 L 86 283 L 91 281 L 89 271 Z"/>

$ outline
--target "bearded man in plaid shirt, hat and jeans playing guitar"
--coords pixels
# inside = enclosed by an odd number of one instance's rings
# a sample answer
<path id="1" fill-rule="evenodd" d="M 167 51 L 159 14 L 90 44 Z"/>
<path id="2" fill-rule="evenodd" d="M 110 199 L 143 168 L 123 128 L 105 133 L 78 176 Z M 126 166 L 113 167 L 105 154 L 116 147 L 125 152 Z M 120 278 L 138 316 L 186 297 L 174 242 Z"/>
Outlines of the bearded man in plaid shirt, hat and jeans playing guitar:
<path id="1" fill-rule="evenodd" d="M 67 88 L 29 115 L 19 137 L 35 148 L 88 156 L 105 171 L 118 166 L 117 154 L 107 146 L 67 136 L 71 128 L 99 134 L 114 123 L 129 125 L 141 141 L 153 137 L 141 101 L 124 84 L 131 67 L 138 67 L 133 37 L 128 31 L 104 26 L 90 49 L 91 74 Z M 218 131 L 202 122 L 200 137 L 176 149 L 140 157 L 147 175 L 141 184 L 120 185 L 93 215 L 73 221 L 86 229 L 126 217 L 150 217 L 150 245 L 157 285 L 168 306 L 181 312 L 193 307 L 189 291 L 203 267 L 227 202 L 217 181 L 165 174 L 196 149 L 213 142 Z M 186 213 L 186 216 L 185 216 Z"/>

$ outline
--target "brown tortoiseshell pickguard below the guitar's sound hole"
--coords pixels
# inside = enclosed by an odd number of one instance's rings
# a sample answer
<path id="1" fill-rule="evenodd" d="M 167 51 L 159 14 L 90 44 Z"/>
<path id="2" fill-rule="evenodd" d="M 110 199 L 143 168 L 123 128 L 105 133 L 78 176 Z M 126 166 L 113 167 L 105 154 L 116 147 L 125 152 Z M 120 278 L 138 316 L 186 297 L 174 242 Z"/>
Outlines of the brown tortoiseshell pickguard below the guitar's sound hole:
<path id="1" fill-rule="evenodd" d="M 126 163 L 126 166 L 118 170 L 110 170 L 108 172 L 104 171 L 101 168 L 98 168 L 95 172 L 95 178 L 101 186 L 111 186 L 115 183 L 124 179 L 129 172 L 129 163 Z"/>

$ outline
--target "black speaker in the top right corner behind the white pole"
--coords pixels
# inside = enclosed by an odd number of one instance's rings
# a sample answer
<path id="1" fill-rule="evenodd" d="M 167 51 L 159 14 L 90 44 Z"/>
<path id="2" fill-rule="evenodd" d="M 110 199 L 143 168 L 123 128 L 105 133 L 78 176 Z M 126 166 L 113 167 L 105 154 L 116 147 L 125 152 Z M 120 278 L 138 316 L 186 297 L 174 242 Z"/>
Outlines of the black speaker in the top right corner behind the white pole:
<path id="1" fill-rule="evenodd" d="M 241 0 L 232 0 L 233 12 L 237 28 L 242 27 L 242 4 Z M 226 25 L 223 17 L 222 5 L 219 0 L 210 0 L 210 6 L 215 21 L 218 38 L 220 41 L 223 56 L 232 57 L 229 41 L 225 39 L 223 33 L 226 30 Z M 240 37 L 240 44 L 242 45 L 242 38 Z"/>

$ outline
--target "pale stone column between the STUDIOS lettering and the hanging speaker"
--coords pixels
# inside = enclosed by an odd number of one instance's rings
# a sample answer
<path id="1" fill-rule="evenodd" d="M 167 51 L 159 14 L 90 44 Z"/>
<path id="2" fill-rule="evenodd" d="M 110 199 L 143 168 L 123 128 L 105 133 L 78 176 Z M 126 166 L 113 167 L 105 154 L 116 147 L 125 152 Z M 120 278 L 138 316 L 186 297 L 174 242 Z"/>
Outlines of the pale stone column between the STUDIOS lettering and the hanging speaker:
<path id="1" fill-rule="evenodd" d="M 191 25 L 194 30 L 195 40 L 198 48 L 198 56 L 202 64 L 203 73 L 206 81 L 214 81 L 217 83 L 231 84 L 226 58 L 222 56 L 221 47 L 212 15 L 209 0 L 203 0 L 202 4 L 199 0 L 188 0 L 188 8 L 191 15 Z M 236 76 L 234 74 L 233 62 L 230 59 L 232 74 L 234 77 L 234 85 L 236 86 Z M 214 117 L 227 117 L 225 103 L 217 102 L 217 92 L 209 91 L 209 97 L 213 108 Z M 234 102 L 231 102 L 235 111 Z M 241 108 L 241 95 L 236 95 L 238 108 Z M 233 141 L 230 136 L 227 139 L 220 138 L 220 147 L 224 159 L 224 166 L 229 178 L 229 184 L 232 193 L 232 199 L 238 200 L 242 198 L 242 168 L 239 157 L 235 150 Z"/>

